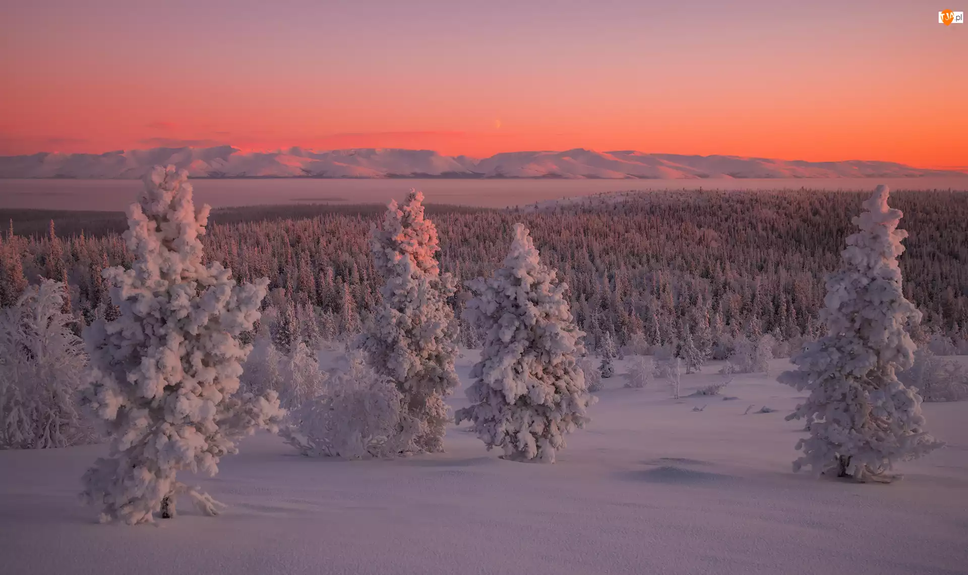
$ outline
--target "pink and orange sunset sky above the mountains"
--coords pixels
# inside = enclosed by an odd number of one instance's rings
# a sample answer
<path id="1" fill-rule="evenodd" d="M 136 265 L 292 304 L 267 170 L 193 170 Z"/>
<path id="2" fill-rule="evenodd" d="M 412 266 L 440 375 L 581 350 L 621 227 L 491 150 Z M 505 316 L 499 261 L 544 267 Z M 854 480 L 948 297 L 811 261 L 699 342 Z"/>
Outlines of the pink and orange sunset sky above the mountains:
<path id="1" fill-rule="evenodd" d="M 937 16 L 963 1 L 2 0 L 0 154 L 585 147 L 968 166 L 968 25 Z"/>

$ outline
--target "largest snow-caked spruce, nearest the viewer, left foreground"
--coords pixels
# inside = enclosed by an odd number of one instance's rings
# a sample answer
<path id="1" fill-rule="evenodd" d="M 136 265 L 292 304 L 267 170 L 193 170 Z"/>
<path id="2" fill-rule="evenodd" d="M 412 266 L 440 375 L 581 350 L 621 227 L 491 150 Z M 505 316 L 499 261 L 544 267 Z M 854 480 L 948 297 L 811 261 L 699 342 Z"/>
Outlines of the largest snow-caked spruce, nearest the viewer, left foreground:
<path id="1" fill-rule="evenodd" d="M 237 286 L 221 263 L 203 263 L 208 206 L 196 212 L 185 171 L 156 166 L 144 183 L 124 233 L 132 268 L 104 271 L 120 316 L 84 332 L 85 402 L 112 439 L 84 474 L 82 498 L 101 507 L 103 521 L 128 524 L 172 516 L 179 494 L 215 514 L 218 502 L 175 474 L 214 474 L 237 439 L 284 414 L 273 392 L 235 393 L 249 353 L 237 338 L 258 318 L 267 281 Z"/>

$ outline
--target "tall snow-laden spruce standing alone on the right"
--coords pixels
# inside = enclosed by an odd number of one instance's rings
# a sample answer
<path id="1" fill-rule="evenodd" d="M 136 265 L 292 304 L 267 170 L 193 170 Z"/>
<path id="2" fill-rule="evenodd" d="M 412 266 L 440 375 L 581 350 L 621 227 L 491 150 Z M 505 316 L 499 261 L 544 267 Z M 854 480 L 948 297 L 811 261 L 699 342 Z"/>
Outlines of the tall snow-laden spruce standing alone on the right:
<path id="1" fill-rule="evenodd" d="M 805 419 L 809 437 L 794 469 L 835 472 L 858 480 L 890 480 L 898 461 L 940 447 L 924 431 L 922 398 L 905 387 L 897 370 L 911 367 L 914 343 L 904 330 L 921 312 L 905 299 L 897 257 L 907 232 L 897 229 L 903 215 L 888 206 L 888 188 L 878 186 L 853 222 L 861 228 L 847 238 L 842 264 L 827 280 L 820 318 L 828 335 L 807 344 L 792 361 L 796 371 L 780 381 L 808 391 L 807 400 L 787 419 Z"/>

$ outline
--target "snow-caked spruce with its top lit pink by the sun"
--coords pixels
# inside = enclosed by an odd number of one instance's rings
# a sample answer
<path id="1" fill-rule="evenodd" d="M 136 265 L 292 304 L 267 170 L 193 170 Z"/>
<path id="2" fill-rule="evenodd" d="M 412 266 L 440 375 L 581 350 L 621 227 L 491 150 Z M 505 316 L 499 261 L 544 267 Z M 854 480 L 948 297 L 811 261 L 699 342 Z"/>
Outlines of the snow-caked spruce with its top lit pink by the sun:
<path id="1" fill-rule="evenodd" d="M 383 301 L 358 340 L 378 373 L 391 378 L 408 413 L 420 422 L 418 450 L 443 451 L 450 415 L 444 398 L 460 382 L 454 371 L 458 321 L 447 304 L 456 287 L 441 274 L 434 223 L 424 217 L 423 194 L 391 201 L 382 229 L 373 229 L 374 263 L 385 284 Z"/>

